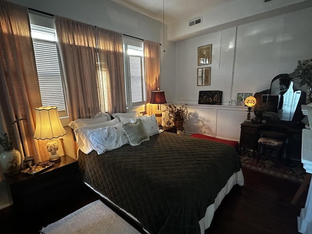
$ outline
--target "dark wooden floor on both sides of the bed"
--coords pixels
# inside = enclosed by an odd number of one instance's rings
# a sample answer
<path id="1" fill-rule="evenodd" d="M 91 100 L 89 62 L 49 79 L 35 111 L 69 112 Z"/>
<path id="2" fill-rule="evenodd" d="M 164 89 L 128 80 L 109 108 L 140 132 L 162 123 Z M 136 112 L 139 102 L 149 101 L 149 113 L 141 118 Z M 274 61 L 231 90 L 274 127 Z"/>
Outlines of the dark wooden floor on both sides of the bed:
<path id="1" fill-rule="evenodd" d="M 305 205 L 307 190 L 295 205 L 290 201 L 299 183 L 243 168 L 245 185 L 234 186 L 215 212 L 205 234 L 297 234 L 297 216 Z M 1 234 L 38 234 L 39 230 L 99 197 L 85 189 L 38 214 L 0 210 Z M 47 201 L 47 204 L 49 201 Z"/>

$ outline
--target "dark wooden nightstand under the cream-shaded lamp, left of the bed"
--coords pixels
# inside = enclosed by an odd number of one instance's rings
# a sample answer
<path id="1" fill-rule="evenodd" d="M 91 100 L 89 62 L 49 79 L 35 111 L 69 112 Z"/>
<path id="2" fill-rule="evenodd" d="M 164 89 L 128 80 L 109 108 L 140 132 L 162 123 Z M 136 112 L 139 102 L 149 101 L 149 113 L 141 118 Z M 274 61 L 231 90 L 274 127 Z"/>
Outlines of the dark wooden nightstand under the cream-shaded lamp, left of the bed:
<path id="1" fill-rule="evenodd" d="M 60 158 L 53 167 L 34 176 L 23 173 L 5 176 L 15 209 L 38 211 L 81 188 L 78 161 L 67 155 Z"/>

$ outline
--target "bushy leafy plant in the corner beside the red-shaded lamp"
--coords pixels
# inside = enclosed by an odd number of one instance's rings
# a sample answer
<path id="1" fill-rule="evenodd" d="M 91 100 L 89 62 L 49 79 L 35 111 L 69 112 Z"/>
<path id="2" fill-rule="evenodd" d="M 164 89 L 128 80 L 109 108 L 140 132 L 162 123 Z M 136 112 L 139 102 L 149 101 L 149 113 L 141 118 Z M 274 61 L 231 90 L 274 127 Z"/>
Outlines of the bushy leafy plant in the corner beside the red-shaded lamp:
<path id="1" fill-rule="evenodd" d="M 186 123 L 188 115 L 184 105 L 176 107 L 172 102 L 169 102 L 166 104 L 166 111 L 168 111 L 168 116 L 174 122 L 176 129 L 183 131 L 183 124 Z"/>

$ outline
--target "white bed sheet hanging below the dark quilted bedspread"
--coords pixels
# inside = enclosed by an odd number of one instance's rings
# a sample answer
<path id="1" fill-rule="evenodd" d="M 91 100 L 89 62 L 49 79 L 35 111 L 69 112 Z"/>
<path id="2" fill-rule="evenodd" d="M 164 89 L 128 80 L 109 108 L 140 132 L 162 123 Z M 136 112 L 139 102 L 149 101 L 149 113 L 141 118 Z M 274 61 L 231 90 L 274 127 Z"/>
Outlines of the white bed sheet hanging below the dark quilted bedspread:
<path id="1" fill-rule="evenodd" d="M 95 191 L 98 195 L 100 195 L 101 197 L 103 197 L 104 199 L 106 199 L 107 201 L 109 201 L 110 203 L 114 204 L 116 207 L 118 207 L 121 211 L 123 211 L 125 214 L 127 214 L 128 216 L 130 216 L 132 219 L 134 219 L 135 221 L 137 221 L 139 223 L 139 221 L 137 220 L 137 218 L 133 215 L 131 215 L 129 212 L 125 211 L 124 209 L 120 208 L 119 206 L 117 206 L 114 202 L 112 202 L 108 197 L 106 197 L 105 195 L 101 194 L 100 192 L 98 192 L 96 189 L 94 189 L 91 185 L 89 185 L 88 183 L 85 182 L 85 184 L 90 187 L 93 191 Z M 200 233 L 204 234 L 205 230 L 207 228 L 210 227 L 210 224 L 213 220 L 214 214 L 215 214 L 215 210 L 219 207 L 219 205 L 221 204 L 221 201 L 223 200 L 223 198 L 225 197 L 225 195 L 227 195 L 231 189 L 233 188 L 233 186 L 235 184 L 238 184 L 239 186 L 243 186 L 244 185 L 244 176 L 243 176 L 243 172 L 240 169 L 238 172 L 234 173 L 229 179 L 228 182 L 226 183 L 226 185 L 221 189 L 221 191 L 218 193 L 218 195 L 215 198 L 215 202 L 213 204 L 211 204 L 210 206 L 207 207 L 206 209 L 206 213 L 205 216 L 199 220 L 199 226 L 200 226 Z M 150 234 L 147 230 L 144 229 L 144 231 L 147 234 Z"/>

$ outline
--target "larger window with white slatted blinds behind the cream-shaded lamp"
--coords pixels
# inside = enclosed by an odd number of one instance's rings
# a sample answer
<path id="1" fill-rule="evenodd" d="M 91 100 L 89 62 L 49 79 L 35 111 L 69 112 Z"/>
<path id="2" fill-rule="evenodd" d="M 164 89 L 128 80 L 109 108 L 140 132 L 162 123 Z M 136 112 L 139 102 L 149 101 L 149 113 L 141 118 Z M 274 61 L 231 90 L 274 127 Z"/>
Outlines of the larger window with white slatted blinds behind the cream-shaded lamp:
<path id="1" fill-rule="evenodd" d="M 45 27 L 33 23 L 31 23 L 30 27 L 42 106 L 57 106 L 59 117 L 67 117 L 56 31 L 52 27 Z"/>

